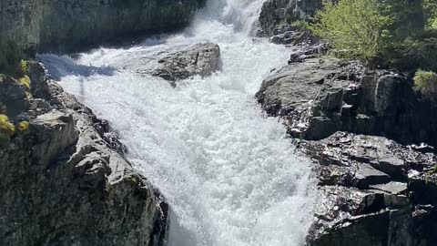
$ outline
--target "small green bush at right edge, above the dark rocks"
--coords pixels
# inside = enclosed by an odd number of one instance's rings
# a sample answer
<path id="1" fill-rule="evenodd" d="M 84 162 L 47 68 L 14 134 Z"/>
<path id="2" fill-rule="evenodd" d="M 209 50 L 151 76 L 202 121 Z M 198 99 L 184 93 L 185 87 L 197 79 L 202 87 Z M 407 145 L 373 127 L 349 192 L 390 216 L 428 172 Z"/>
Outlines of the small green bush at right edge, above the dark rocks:
<path id="1" fill-rule="evenodd" d="M 422 96 L 437 100 L 437 74 L 431 71 L 418 70 L 413 78 L 414 87 L 422 93 Z"/>

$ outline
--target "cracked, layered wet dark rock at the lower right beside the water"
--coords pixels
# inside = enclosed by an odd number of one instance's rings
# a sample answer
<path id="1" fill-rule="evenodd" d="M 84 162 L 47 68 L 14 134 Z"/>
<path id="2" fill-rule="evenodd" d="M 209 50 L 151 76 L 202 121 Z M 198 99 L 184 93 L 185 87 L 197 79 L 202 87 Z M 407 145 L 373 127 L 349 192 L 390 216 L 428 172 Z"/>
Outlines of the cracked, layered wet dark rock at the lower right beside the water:
<path id="1" fill-rule="evenodd" d="M 426 229 L 435 210 L 423 209 L 437 201 L 434 154 L 346 132 L 294 141 L 319 164 L 322 202 L 309 245 L 418 245 L 422 238 L 423 245 L 436 243 Z"/>

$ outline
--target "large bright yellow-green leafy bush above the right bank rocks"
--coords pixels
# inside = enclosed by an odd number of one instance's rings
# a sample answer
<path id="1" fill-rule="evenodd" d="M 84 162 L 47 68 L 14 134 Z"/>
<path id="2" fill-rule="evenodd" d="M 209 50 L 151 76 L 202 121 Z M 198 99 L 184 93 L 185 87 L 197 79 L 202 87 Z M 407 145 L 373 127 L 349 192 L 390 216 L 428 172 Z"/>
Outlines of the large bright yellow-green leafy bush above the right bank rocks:
<path id="1" fill-rule="evenodd" d="M 391 34 L 386 28 L 391 17 L 382 15 L 377 0 L 323 0 L 309 25 L 314 35 L 330 42 L 336 54 L 371 60 L 388 46 Z"/>

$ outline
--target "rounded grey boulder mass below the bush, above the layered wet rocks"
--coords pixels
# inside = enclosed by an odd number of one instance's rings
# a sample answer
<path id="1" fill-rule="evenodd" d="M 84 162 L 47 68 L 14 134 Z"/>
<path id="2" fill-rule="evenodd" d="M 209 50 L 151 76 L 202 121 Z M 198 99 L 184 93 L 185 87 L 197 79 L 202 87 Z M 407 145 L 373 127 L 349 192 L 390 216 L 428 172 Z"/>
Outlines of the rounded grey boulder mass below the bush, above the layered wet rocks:
<path id="1" fill-rule="evenodd" d="M 256 97 L 269 115 L 285 118 L 295 138 L 342 130 L 437 146 L 437 105 L 414 91 L 408 75 L 310 58 L 267 77 Z"/>

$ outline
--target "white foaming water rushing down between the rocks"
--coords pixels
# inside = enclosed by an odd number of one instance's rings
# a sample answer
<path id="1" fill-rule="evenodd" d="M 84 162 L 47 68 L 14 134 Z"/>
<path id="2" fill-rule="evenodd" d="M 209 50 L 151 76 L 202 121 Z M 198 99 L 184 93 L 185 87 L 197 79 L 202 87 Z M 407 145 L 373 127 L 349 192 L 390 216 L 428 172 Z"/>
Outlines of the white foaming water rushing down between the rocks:
<path id="1" fill-rule="evenodd" d="M 298 246 L 313 220 L 316 180 L 277 118 L 253 95 L 286 47 L 252 40 L 262 0 L 211 0 L 185 32 L 129 48 L 40 56 L 62 87 L 106 118 L 128 158 L 167 198 L 173 246 Z M 123 69 L 171 46 L 208 39 L 223 69 L 173 88 Z"/>

